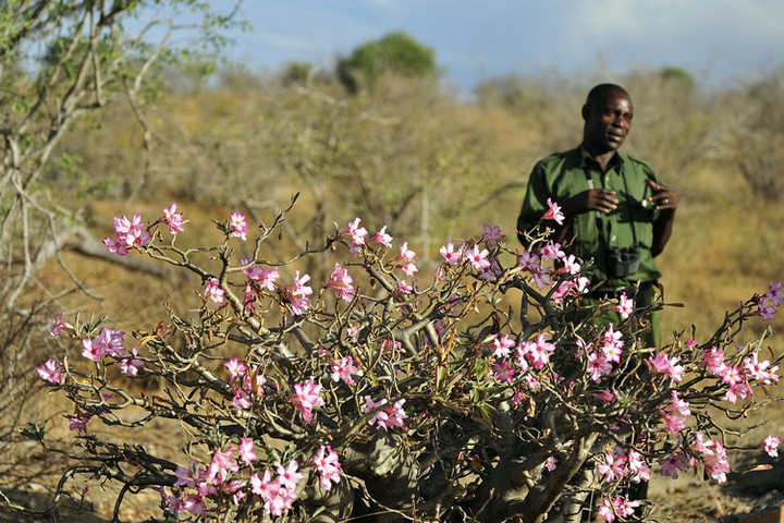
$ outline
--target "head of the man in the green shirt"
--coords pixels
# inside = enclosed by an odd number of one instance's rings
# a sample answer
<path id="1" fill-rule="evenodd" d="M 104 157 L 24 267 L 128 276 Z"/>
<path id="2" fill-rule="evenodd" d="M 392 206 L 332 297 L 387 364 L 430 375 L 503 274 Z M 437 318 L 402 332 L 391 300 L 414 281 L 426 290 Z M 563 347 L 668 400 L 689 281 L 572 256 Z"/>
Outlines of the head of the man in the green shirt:
<path id="1" fill-rule="evenodd" d="M 583 106 L 583 145 L 591 155 L 614 151 L 632 131 L 634 106 L 629 94 L 615 84 L 593 87 Z"/>

